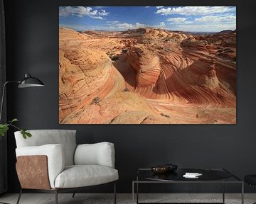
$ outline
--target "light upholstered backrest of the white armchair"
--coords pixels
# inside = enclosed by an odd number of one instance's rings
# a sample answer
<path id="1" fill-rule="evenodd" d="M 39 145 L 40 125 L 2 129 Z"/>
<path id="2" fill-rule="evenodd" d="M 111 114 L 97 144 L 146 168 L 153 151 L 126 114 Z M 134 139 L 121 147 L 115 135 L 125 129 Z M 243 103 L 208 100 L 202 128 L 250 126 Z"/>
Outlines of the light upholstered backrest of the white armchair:
<path id="1" fill-rule="evenodd" d="M 64 146 L 65 165 L 69 166 L 74 164 L 76 130 L 28 130 L 28 132 L 32 134 L 32 137 L 27 139 L 23 139 L 21 131 L 14 132 L 17 148 L 60 144 Z"/>

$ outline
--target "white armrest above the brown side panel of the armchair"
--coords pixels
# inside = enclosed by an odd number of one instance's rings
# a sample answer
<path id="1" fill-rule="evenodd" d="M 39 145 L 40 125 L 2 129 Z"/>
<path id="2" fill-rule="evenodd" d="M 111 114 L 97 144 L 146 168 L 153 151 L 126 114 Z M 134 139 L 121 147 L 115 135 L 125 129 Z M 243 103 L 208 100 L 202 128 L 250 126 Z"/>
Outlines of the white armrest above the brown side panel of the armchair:
<path id="1" fill-rule="evenodd" d="M 30 147 L 19 147 L 16 148 L 16 157 L 20 156 L 38 156 L 46 155 L 48 164 L 48 176 L 50 181 L 50 187 L 55 188 L 55 178 L 63 171 L 65 166 L 65 154 L 63 145 L 41 145 L 41 146 L 30 146 Z M 29 171 L 29 167 L 23 171 Z M 31 172 L 35 174 L 35 172 Z"/>

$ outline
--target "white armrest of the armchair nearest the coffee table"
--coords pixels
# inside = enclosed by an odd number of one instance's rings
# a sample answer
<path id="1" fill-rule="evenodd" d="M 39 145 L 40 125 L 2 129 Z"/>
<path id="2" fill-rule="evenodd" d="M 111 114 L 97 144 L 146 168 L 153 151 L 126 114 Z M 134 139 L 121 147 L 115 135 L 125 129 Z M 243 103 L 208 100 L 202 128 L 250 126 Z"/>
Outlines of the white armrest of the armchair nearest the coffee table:
<path id="1" fill-rule="evenodd" d="M 75 165 L 95 164 L 114 168 L 114 144 L 100 142 L 78 145 L 74 162 Z"/>

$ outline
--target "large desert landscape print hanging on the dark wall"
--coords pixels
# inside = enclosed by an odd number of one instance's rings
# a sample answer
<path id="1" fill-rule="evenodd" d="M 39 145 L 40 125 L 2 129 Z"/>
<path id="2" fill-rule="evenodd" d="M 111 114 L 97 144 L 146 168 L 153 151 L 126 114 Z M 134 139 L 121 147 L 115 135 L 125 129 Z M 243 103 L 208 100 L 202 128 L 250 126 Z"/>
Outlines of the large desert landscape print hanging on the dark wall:
<path id="1" fill-rule="evenodd" d="M 236 7 L 60 6 L 60 124 L 235 124 Z"/>

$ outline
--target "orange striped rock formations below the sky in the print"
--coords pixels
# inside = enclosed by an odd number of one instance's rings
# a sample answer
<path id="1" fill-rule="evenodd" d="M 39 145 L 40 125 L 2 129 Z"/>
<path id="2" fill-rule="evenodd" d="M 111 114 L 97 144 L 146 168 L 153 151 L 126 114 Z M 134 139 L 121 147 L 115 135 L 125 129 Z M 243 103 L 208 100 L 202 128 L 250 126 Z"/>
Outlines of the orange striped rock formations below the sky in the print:
<path id="1" fill-rule="evenodd" d="M 60 123 L 236 123 L 236 32 L 59 35 Z"/>

